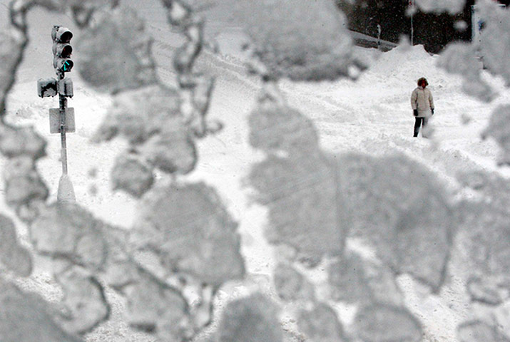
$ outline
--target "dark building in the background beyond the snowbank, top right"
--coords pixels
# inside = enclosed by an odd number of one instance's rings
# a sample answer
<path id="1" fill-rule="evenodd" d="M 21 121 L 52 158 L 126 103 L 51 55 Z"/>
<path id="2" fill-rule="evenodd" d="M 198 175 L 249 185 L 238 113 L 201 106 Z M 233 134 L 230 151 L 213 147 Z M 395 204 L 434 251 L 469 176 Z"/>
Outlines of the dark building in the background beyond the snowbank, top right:
<path id="1" fill-rule="evenodd" d="M 510 0 L 499 1 L 510 4 Z M 397 43 L 400 36 L 411 34 L 411 18 L 406 11 L 408 0 L 337 0 L 342 11 L 347 14 L 352 31 L 377 36 L 377 24 L 382 28 L 381 39 Z M 413 16 L 414 44 L 424 45 L 425 50 L 438 53 L 450 41 L 471 40 L 471 5 L 474 0 L 466 0 L 464 11 L 457 15 L 430 14 L 417 11 Z M 457 22 L 465 22 L 459 29 Z"/>

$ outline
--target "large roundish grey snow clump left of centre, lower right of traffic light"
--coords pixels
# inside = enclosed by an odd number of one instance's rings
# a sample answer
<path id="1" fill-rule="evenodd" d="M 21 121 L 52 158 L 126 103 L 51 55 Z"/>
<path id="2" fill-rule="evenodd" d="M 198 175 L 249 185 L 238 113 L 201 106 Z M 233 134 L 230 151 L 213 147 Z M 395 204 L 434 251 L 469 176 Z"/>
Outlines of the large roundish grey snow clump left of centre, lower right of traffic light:
<path id="1" fill-rule="evenodd" d="M 237 223 L 203 183 L 154 188 L 143 199 L 131 243 L 160 258 L 168 274 L 218 287 L 244 274 Z"/>

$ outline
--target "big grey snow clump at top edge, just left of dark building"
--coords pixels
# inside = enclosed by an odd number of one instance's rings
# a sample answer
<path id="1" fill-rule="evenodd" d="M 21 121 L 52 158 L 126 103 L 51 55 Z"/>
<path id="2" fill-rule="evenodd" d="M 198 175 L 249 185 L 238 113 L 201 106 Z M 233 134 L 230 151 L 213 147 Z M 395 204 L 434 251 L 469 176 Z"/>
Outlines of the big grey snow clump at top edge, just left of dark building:
<path id="1" fill-rule="evenodd" d="M 335 80 L 364 68 L 335 1 L 242 0 L 236 8 L 267 78 Z"/>

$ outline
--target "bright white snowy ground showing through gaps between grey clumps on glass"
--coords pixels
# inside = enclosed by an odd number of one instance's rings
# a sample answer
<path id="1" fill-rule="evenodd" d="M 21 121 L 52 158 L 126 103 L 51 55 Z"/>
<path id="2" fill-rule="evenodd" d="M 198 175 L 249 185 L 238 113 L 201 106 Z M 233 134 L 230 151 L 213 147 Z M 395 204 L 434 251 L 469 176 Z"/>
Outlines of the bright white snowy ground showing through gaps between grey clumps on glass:
<path id="1" fill-rule="evenodd" d="M 0 5 L 4 2 L 1 1 Z M 151 18 L 148 25 L 155 38 L 153 52 L 159 77 L 163 83 L 173 84 L 170 58 L 173 49 L 182 41 L 170 32 L 158 6 L 151 4 L 139 9 L 143 16 Z M 2 6 L 0 15 L 4 15 Z M 44 11 L 31 14 L 33 39 L 26 61 L 17 75 L 18 82 L 9 95 L 7 118 L 11 123 L 34 125 L 48 140 L 48 156 L 41 159 L 38 167 L 51 189 L 52 199 L 56 199 L 61 176 L 60 139 L 58 135 L 49 133 L 48 110 L 56 107 L 58 101 L 56 98 L 38 98 L 36 81 L 37 78 L 53 76 L 49 24 L 54 21 L 71 26 L 68 23 L 70 19 L 65 16 Z M 208 116 L 222 121 L 225 128 L 218 135 L 198 142 L 198 166 L 186 180 L 203 180 L 216 187 L 230 213 L 240 223 L 242 251 L 248 273 L 252 274 L 250 279 L 258 284 L 267 284 L 266 279 L 275 266 L 274 253 L 277 250 L 265 242 L 265 209 L 250 200 L 252 194 L 245 187 L 244 180 L 251 165 L 261 158 L 260 152 L 253 150 L 248 143 L 246 122 L 255 105 L 260 81 L 248 76 L 245 71 L 246 56 L 240 49 L 245 36 L 240 29 L 219 19 L 210 26 L 208 34 L 215 37 L 222 52 L 219 55 L 205 52 L 200 57 L 198 68 L 216 76 Z M 280 82 L 289 105 L 314 121 L 325 150 L 335 153 L 361 151 L 371 155 L 403 152 L 437 172 L 452 192 L 459 190 L 455 180 L 459 171 L 491 170 L 510 180 L 510 168 L 496 165 L 499 147 L 492 140 L 480 138 L 492 110 L 510 102 L 510 90 L 504 87 L 501 78 L 483 73 L 485 81 L 499 91 L 499 96 L 491 103 L 482 103 L 465 95 L 461 90 L 461 76 L 449 75 L 435 66 L 437 56 L 429 55 L 422 46 L 399 46 L 387 53 L 356 48 L 356 53 L 372 62 L 358 81 Z M 89 141 L 111 104 L 111 97 L 87 88 L 76 72 L 68 76 L 73 78 L 75 94 L 68 103 L 76 113 L 76 133 L 68 134 L 67 140 L 68 169 L 76 199 L 96 217 L 129 229 L 135 219 L 136 200 L 122 192 L 112 192 L 109 181 L 113 160 L 126 148 L 126 142 L 117 139 L 93 145 Z M 412 138 L 414 118 L 409 97 L 417 79 L 422 76 L 429 81 L 436 105 L 431 120 L 434 135 L 430 140 Z M 4 162 L 5 158 L 1 157 L 0 167 Z M 4 192 L 3 185 L 0 192 Z M 14 218 L 14 213 L 4 203 L 0 204 L 0 211 Z M 26 234 L 21 239 L 26 241 Z M 48 279 L 44 268 L 39 267 L 22 286 L 38 291 L 46 299 L 55 300 L 60 294 Z M 408 309 L 424 324 L 426 341 L 457 341 L 457 324 L 473 317 L 471 308 L 466 304 L 464 286 L 459 284 L 454 272 L 439 294 L 430 294 L 407 276 L 402 276 L 399 282 L 404 289 Z M 245 291 L 248 290 L 225 286 L 219 296 L 231 299 Z M 113 298 L 116 301 L 112 321 L 90 333 L 87 341 L 152 341 L 143 333 L 127 328 L 126 323 L 118 318 L 118 308 L 123 303 L 117 297 Z M 350 315 L 349 308 L 335 309 L 342 319 Z M 510 333 L 509 312 L 510 303 L 507 302 L 501 306 L 501 312 L 496 313 L 501 318 L 500 323 L 506 322 L 503 326 L 506 333 Z"/>

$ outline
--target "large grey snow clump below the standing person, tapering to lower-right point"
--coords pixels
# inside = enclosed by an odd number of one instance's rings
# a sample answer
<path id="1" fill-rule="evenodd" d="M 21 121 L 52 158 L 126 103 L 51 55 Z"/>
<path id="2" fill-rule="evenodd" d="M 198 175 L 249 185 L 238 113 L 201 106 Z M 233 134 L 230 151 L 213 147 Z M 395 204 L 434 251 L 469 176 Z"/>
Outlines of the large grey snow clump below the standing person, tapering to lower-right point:
<path id="1" fill-rule="evenodd" d="M 439 290 L 454 216 L 442 185 L 404 155 L 344 155 L 338 161 L 349 236 L 362 238 L 397 273 Z"/>

